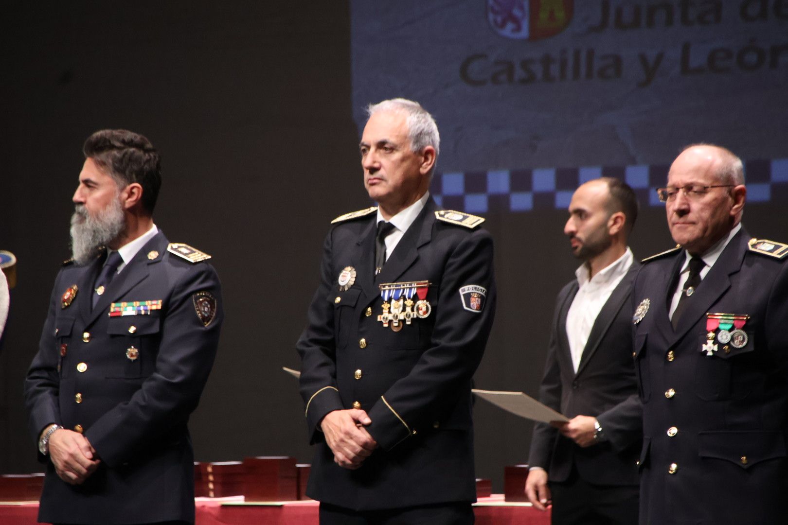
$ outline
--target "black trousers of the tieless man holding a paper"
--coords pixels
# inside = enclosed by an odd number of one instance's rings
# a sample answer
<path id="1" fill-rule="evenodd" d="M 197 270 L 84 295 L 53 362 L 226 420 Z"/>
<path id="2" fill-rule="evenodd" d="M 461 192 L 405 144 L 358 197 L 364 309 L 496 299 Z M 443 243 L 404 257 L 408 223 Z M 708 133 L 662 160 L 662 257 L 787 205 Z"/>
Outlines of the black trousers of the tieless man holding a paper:
<path id="1" fill-rule="evenodd" d="M 637 525 L 640 487 L 594 485 L 578 475 L 550 483 L 552 525 Z"/>

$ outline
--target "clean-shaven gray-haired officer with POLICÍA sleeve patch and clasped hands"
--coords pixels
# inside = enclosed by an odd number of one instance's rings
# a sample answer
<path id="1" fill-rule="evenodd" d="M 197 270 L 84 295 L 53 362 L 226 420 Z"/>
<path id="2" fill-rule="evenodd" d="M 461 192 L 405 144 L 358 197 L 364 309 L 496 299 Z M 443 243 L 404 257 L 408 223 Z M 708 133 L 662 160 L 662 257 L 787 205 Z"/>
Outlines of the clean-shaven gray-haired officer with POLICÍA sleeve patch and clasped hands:
<path id="1" fill-rule="evenodd" d="M 473 523 L 470 380 L 492 326 L 492 238 L 429 196 L 439 135 L 421 105 L 370 105 L 377 208 L 333 221 L 297 349 L 321 523 Z"/>

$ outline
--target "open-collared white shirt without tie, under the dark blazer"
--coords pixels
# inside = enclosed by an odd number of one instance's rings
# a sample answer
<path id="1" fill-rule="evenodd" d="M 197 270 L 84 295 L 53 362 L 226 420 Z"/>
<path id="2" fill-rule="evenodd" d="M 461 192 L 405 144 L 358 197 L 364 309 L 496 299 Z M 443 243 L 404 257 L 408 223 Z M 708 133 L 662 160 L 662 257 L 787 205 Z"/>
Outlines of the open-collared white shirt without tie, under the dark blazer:
<path id="1" fill-rule="evenodd" d="M 633 261 L 632 250 L 627 247 L 621 257 L 597 272 L 592 279 L 589 279 L 591 272 L 587 264 L 575 270 L 580 288 L 567 313 L 567 338 L 574 372 L 578 372 L 583 349 L 600 310 L 608 302 L 615 287 L 619 286 Z"/>

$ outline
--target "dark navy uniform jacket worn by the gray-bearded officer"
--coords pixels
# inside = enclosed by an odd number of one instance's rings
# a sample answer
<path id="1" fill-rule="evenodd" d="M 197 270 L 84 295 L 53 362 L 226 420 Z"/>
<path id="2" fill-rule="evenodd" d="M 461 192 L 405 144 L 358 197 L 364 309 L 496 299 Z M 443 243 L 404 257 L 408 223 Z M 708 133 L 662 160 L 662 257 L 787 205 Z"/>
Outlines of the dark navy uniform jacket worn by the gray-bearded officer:
<path id="1" fill-rule="evenodd" d="M 161 232 L 155 235 L 93 309 L 93 283 L 104 257 L 84 266 L 67 264 L 55 280 L 39 352 L 24 383 L 30 431 L 37 442 L 49 423 L 69 430 L 80 425 L 102 465 L 83 485 L 71 486 L 42 458 L 42 521 L 194 520 L 194 459 L 186 423 L 214 363 L 221 290 L 214 268 L 185 261 L 167 246 Z M 76 298 L 62 307 L 62 294 L 75 284 Z M 200 292 L 217 301 L 207 326 L 195 312 L 195 297 L 207 297 L 195 296 Z M 108 315 L 112 302 L 158 299 L 162 308 L 150 315 Z M 135 360 L 127 357 L 132 346 Z M 80 363 L 87 370 L 79 372 Z"/>

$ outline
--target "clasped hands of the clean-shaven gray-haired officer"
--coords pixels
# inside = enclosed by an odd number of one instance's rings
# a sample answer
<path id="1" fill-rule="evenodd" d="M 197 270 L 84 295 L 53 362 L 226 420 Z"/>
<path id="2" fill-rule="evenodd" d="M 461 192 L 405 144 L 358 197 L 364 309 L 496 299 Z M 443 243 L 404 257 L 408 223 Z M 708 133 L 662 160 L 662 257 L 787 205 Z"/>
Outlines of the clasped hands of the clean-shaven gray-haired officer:
<path id="1" fill-rule="evenodd" d="M 320 427 L 334 453 L 334 463 L 355 470 L 374 449 L 377 442 L 366 431 L 372 420 L 363 410 L 334 410 L 323 417 Z"/>

